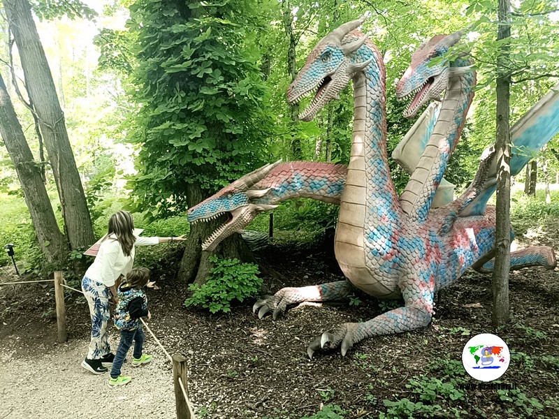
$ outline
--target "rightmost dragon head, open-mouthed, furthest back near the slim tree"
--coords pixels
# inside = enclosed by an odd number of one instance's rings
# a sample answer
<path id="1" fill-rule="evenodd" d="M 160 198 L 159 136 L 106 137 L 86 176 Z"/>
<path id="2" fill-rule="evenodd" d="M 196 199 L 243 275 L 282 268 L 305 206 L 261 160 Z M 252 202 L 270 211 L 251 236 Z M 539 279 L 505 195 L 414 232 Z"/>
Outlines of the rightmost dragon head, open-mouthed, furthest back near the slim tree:
<path id="1" fill-rule="evenodd" d="M 404 112 L 407 118 L 414 117 L 422 105 L 440 98 L 449 81 L 450 63 L 442 59 L 433 64 L 433 59 L 442 57 L 455 45 L 462 31 L 451 35 L 436 35 L 412 54 L 412 64 L 405 71 L 396 86 L 396 97 L 403 99 L 415 94 L 412 103 Z"/>

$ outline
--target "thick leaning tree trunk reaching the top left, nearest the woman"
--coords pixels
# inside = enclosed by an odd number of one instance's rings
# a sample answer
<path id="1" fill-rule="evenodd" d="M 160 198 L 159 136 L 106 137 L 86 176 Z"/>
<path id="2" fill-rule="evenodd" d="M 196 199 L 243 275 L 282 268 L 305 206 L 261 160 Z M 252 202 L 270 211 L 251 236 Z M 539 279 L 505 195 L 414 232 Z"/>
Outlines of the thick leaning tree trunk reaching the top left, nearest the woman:
<path id="1" fill-rule="evenodd" d="M 27 0 L 5 0 L 4 7 L 20 54 L 29 98 L 34 103 L 55 175 L 66 238 L 71 249 L 88 246 L 95 241 L 92 221 L 68 140 L 64 113 L 29 3 Z"/>

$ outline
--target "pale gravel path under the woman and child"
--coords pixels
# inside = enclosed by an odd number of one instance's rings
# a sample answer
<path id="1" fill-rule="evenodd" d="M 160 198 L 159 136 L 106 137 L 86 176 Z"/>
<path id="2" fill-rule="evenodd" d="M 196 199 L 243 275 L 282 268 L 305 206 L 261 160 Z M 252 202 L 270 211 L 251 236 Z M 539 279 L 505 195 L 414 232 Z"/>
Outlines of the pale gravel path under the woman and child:
<path id="1" fill-rule="evenodd" d="M 84 339 L 27 360 L 0 347 L 0 419 L 175 418 L 172 366 L 149 340 L 145 351 L 154 361 L 133 368 L 130 351 L 122 373 L 133 378 L 119 388 L 108 387 L 108 373 L 96 376 L 80 366 Z"/>

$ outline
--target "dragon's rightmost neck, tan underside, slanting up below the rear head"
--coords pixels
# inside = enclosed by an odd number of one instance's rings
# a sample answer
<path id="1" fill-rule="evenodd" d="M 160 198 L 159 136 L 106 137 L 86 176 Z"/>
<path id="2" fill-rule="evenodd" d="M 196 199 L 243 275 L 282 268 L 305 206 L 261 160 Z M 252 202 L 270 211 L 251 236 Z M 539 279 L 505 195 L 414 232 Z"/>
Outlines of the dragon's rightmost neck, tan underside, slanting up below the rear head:
<path id="1" fill-rule="evenodd" d="M 416 170 L 400 195 L 402 211 L 410 222 L 427 219 L 437 187 L 464 127 L 474 97 L 475 72 L 463 61 L 450 68 L 447 90 L 433 133 L 419 159 Z M 469 64 L 469 63 L 468 63 Z"/>

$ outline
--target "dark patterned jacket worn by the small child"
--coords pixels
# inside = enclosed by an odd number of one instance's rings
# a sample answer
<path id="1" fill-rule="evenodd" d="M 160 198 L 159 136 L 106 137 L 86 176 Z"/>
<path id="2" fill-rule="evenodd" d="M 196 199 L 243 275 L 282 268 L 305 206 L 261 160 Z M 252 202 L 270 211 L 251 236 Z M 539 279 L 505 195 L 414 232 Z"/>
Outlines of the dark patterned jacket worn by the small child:
<path id="1" fill-rule="evenodd" d="M 147 297 L 143 288 L 129 284 L 118 287 L 119 303 L 115 309 L 115 327 L 119 330 L 135 330 L 140 317 L 147 316 Z"/>

